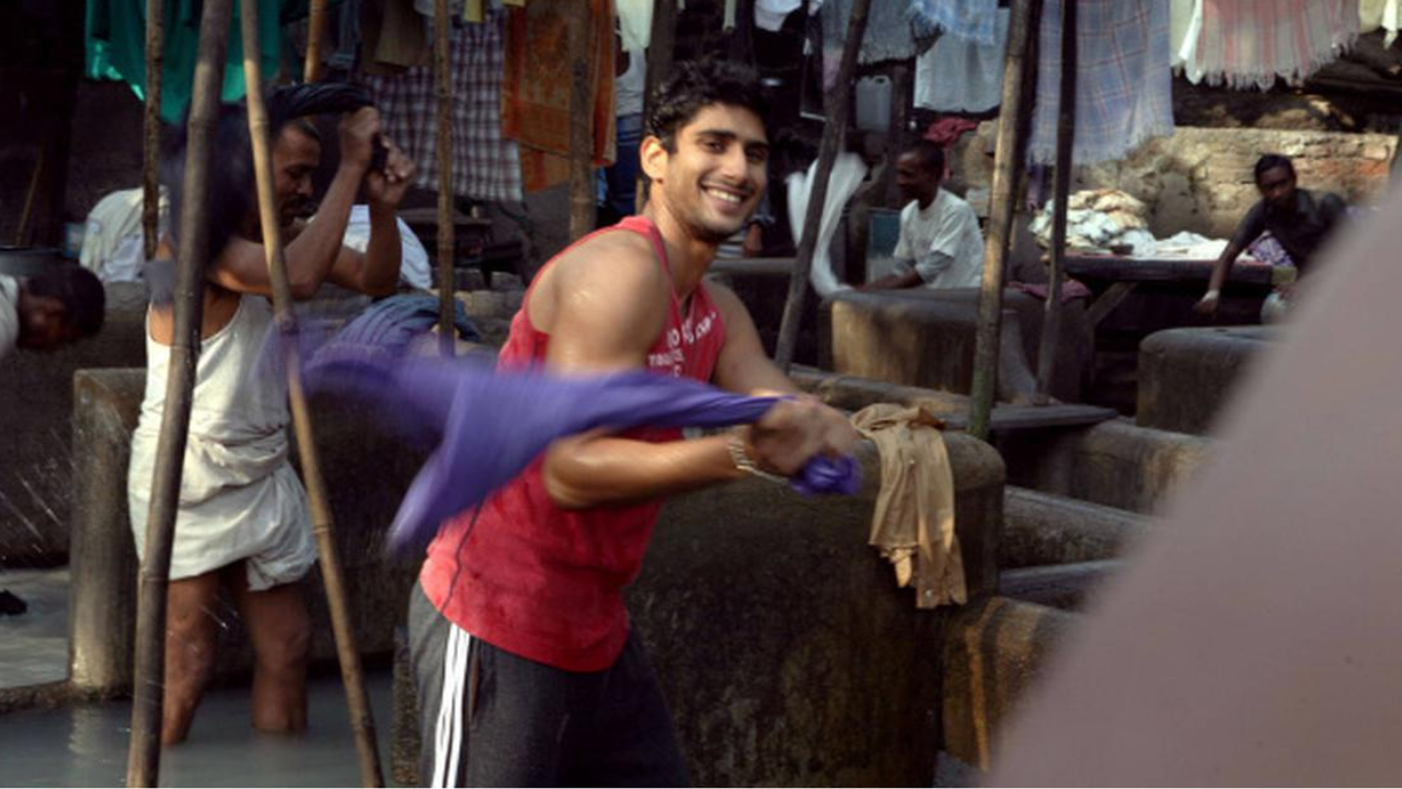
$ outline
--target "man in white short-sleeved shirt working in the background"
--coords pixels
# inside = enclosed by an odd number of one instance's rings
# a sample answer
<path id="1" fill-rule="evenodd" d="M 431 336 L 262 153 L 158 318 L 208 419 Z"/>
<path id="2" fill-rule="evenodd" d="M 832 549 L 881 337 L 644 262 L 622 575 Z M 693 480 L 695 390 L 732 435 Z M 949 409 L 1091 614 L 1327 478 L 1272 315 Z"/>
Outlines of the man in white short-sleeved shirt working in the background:
<path id="1" fill-rule="evenodd" d="M 866 291 L 977 288 L 983 278 L 983 233 L 967 202 L 939 188 L 945 152 L 920 140 L 896 160 L 896 184 L 910 202 L 900 212 L 896 271 Z"/>

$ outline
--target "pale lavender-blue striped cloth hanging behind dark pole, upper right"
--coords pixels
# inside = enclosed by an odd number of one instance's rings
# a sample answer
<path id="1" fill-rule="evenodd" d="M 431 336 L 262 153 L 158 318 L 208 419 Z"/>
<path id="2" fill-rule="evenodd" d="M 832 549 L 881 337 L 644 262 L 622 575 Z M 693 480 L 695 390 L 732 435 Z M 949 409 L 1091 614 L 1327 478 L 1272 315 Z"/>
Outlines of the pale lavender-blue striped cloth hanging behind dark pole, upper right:
<path id="1" fill-rule="evenodd" d="M 1077 164 L 1122 159 L 1173 133 L 1168 0 L 1080 0 L 1077 7 Z M 1056 160 L 1061 0 L 1046 0 L 1037 41 L 1037 104 L 1028 159 Z"/>

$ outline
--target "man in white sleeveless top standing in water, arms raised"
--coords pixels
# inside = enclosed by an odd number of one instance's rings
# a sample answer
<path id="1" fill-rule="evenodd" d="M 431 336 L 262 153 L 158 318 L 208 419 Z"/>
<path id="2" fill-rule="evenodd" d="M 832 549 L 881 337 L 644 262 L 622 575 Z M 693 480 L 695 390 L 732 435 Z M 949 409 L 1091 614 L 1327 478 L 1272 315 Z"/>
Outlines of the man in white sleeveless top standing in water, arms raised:
<path id="1" fill-rule="evenodd" d="M 287 107 L 289 95 L 320 87 L 275 93 L 269 115 L 278 118 L 275 111 Z M 306 102 L 303 111 L 308 111 Z M 394 212 L 412 183 L 414 164 L 388 145 L 383 170 L 372 168 L 380 136 L 380 115 L 372 107 L 346 114 L 339 136 L 335 178 L 315 222 L 301 226 L 299 218 L 311 201 L 311 174 L 321 161 L 321 140 L 313 126 L 289 119 L 286 112 L 272 131 L 278 215 L 287 241 L 293 298 L 311 298 L 322 282 L 388 295 L 400 275 Z M 251 156 L 243 108 L 226 107 L 205 190 L 212 261 L 206 268 L 199 368 L 170 569 L 161 722 L 165 744 L 185 738 L 213 670 L 222 625 L 215 612 L 222 590 L 231 594 L 254 647 L 254 727 L 300 731 L 307 726 L 311 628 L 301 578 L 315 563 L 317 550 L 306 491 L 287 462 L 287 378 L 271 362 L 276 354 L 264 354 L 275 327 Z M 171 206 L 178 209 L 184 147 L 175 145 L 163 159 Z M 342 246 L 350 204 L 360 190 L 369 198 L 372 218 L 365 253 Z M 172 219 L 178 229 L 178 218 Z M 163 239 L 157 256 L 168 258 L 174 243 Z M 153 302 L 147 326 L 146 399 L 132 437 L 128 477 L 132 531 L 140 555 L 165 406 L 174 336 L 171 305 Z"/>

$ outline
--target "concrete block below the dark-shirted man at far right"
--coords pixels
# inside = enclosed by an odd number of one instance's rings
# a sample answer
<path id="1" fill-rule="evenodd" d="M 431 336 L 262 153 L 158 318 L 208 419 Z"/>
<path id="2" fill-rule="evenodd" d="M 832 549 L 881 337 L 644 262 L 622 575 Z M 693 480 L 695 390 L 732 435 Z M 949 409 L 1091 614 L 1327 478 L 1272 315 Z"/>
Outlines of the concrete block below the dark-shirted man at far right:
<path id="1" fill-rule="evenodd" d="M 1140 344 L 1141 427 L 1203 435 L 1237 383 L 1277 337 L 1274 327 L 1171 329 Z"/>

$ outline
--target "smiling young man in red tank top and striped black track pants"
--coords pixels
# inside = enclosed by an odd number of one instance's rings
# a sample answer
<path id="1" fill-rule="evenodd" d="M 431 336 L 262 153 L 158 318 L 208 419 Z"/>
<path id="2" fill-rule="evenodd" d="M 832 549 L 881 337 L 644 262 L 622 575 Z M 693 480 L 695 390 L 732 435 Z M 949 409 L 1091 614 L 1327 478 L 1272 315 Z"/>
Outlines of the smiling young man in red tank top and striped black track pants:
<path id="1" fill-rule="evenodd" d="M 701 281 L 764 194 L 768 136 L 753 73 L 677 67 L 641 161 L 644 215 L 541 270 L 501 364 L 649 368 L 733 392 L 795 393 L 735 293 Z M 423 782 L 687 782 L 622 601 L 660 501 L 749 472 L 791 476 L 815 455 L 850 453 L 857 432 L 841 413 L 796 397 L 730 435 L 680 438 L 558 441 L 479 510 L 444 524 L 409 609 Z"/>

